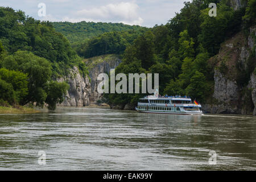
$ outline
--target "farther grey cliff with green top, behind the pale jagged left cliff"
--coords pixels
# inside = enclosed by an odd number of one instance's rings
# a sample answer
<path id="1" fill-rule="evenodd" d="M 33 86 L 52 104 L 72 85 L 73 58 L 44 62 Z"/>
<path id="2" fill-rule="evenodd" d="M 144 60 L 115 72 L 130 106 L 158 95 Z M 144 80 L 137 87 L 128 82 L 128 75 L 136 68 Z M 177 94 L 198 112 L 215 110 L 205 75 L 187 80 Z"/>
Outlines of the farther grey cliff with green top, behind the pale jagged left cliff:
<path id="1" fill-rule="evenodd" d="M 89 100 L 91 104 L 97 104 L 97 101 L 100 99 L 102 94 L 97 92 L 97 86 L 101 81 L 97 81 L 98 75 L 100 73 L 110 73 L 110 69 L 114 69 L 121 63 L 121 59 L 119 59 L 115 55 L 104 55 L 97 56 L 94 58 L 96 60 L 88 60 L 89 66 L 89 77 L 90 77 L 90 92 L 89 92 Z"/>

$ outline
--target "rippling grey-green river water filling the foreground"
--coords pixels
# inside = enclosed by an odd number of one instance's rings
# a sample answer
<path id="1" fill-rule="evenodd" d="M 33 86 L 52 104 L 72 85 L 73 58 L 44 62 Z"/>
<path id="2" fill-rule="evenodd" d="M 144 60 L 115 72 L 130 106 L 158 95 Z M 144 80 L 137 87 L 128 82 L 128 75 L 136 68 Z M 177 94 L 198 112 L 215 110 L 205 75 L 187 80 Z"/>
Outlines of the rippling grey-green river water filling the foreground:
<path id="1" fill-rule="evenodd" d="M 255 131 L 249 115 L 0 114 L 0 170 L 255 170 Z"/>

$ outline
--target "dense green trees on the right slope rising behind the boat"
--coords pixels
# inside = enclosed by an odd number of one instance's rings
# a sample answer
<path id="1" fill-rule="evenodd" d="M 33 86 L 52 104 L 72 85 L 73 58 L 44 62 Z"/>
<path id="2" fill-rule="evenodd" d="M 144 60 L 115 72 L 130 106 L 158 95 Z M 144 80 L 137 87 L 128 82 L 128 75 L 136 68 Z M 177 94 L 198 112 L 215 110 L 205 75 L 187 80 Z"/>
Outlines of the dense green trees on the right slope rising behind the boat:
<path id="1" fill-rule="evenodd" d="M 217 16 L 209 16 L 209 3 L 217 3 Z M 241 31 L 243 19 L 255 20 L 254 0 L 234 11 L 229 0 L 193 0 L 166 25 L 155 26 L 126 48 L 117 73 L 159 73 L 161 95 L 189 95 L 206 102 L 214 88 L 212 65 L 220 44 Z M 105 94 L 110 105 L 137 104 L 143 94 Z"/>

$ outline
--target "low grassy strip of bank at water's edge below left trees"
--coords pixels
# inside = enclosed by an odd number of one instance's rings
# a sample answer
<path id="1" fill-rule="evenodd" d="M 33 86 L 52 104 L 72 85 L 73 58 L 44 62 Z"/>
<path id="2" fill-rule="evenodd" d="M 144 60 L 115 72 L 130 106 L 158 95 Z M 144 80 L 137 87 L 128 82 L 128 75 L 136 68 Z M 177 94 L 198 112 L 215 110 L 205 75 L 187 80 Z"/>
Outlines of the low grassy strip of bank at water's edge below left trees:
<path id="1" fill-rule="evenodd" d="M 40 111 L 30 107 L 26 107 L 26 106 L 19 106 L 18 108 L 0 106 L 0 114 L 32 114 L 32 113 L 40 113 Z"/>

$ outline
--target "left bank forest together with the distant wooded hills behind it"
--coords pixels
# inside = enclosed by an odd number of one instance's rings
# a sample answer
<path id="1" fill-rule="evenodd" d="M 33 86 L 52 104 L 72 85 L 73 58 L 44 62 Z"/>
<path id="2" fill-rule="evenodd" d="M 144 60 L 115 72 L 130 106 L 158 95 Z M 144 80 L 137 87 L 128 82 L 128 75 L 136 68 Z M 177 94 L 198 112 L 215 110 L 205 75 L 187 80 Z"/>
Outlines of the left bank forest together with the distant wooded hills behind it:
<path id="1" fill-rule="evenodd" d="M 147 29 L 123 23 L 41 22 L 0 7 L 0 106 L 47 104 L 54 110 L 69 88 L 54 81 L 57 77 L 67 76 L 74 66 L 88 75 L 83 57 L 122 53 Z"/>

